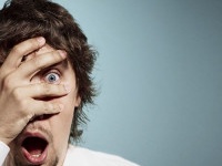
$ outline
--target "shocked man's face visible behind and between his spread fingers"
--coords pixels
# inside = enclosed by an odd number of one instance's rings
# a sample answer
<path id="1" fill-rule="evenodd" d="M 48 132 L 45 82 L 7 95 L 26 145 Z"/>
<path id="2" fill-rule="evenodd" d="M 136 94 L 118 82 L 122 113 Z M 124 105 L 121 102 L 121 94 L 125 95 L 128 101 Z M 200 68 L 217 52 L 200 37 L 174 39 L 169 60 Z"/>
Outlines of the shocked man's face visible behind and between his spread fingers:
<path id="1" fill-rule="evenodd" d="M 51 46 L 46 45 L 28 55 L 26 61 L 52 50 Z M 26 126 L 22 133 L 10 144 L 10 154 L 7 158 L 9 165 L 56 166 L 62 165 L 64 160 L 74 107 L 79 106 L 80 103 L 74 71 L 70 62 L 63 61 L 43 69 L 30 81 L 31 84 L 40 82 L 67 85 L 70 90 L 68 95 L 40 98 L 47 102 L 61 103 L 64 108 L 59 114 L 38 116 Z"/>

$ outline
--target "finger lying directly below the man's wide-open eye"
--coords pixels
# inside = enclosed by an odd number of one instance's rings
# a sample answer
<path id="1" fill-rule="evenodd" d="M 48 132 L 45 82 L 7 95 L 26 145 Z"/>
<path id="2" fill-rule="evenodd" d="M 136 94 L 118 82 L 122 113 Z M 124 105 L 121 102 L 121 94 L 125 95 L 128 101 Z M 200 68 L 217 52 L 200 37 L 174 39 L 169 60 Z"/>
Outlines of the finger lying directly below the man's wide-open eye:
<path id="1" fill-rule="evenodd" d="M 68 84 L 47 84 L 38 83 L 30 84 L 28 86 L 19 87 L 19 94 L 22 97 L 31 98 L 46 98 L 46 97 L 60 97 L 64 96 L 70 92 L 70 86 Z M 22 94 L 21 94 L 22 93 Z"/>

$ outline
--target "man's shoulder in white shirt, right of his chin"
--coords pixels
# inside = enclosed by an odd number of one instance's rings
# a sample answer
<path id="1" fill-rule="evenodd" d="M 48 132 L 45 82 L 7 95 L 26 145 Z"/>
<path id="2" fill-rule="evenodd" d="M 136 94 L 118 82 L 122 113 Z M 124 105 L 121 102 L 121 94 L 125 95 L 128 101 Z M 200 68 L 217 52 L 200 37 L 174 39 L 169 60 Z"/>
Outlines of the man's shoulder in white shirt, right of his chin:
<path id="1" fill-rule="evenodd" d="M 69 145 L 64 166 L 138 166 L 122 157 Z"/>

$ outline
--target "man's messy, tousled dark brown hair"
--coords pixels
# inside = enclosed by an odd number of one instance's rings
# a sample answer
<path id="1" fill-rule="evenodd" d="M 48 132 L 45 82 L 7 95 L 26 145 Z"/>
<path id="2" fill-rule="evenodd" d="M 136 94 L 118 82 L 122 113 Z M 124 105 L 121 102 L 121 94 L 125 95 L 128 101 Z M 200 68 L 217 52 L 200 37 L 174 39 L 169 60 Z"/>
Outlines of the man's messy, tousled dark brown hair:
<path id="1" fill-rule="evenodd" d="M 34 37 L 44 37 L 52 48 L 65 50 L 72 63 L 81 97 L 70 132 L 70 138 L 77 139 L 82 133 L 78 126 L 87 120 L 82 108 L 95 96 L 91 72 L 97 53 L 63 7 L 49 0 L 8 0 L 0 10 L 0 65 L 16 44 Z"/>

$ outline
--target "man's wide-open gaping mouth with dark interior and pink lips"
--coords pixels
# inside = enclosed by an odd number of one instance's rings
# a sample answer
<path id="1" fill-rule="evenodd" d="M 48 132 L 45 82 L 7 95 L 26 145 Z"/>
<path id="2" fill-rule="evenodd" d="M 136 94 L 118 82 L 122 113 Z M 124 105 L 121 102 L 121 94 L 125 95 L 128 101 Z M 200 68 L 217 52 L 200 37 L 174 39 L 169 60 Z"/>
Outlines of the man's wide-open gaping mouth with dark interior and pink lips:
<path id="1" fill-rule="evenodd" d="M 48 142 L 39 136 L 29 136 L 22 142 L 22 153 L 31 164 L 42 164 L 47 158 Z"/>

